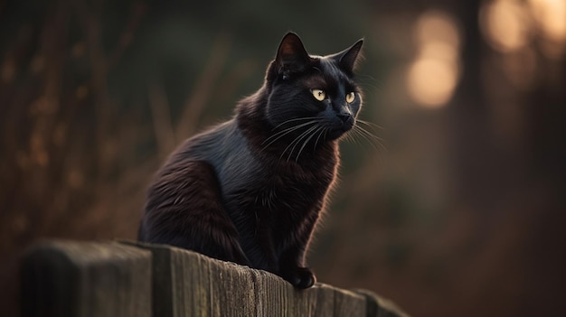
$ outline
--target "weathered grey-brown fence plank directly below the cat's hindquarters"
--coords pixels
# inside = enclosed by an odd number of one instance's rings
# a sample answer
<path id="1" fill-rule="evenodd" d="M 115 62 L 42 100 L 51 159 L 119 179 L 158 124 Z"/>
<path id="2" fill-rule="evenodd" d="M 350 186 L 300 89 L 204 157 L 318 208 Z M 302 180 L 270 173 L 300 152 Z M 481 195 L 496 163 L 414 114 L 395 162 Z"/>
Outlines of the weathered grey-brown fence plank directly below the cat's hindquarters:
<path id="1" fill-rule="evenodd" d="M 255 316 L 249 268 L 177 247 L 125 241 L 154 256 L 154 315 Z"/>

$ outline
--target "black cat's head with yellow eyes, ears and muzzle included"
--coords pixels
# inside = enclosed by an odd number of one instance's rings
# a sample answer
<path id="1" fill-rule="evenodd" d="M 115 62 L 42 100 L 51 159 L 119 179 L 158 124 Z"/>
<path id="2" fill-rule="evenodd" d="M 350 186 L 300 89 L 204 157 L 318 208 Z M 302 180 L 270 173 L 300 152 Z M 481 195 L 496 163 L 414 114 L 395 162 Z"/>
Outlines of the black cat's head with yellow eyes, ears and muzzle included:
<path id="1" fill-rule="evenodd" d="M 315 56 L 307 53 L 297 34 L 286 34 L 266 76 L 269 125 L 279 131 L 297 127 L 288 134 L 327 140 L 349 131 L 362 106 L 354 82 L 362 44 L 360 40 L 344 51 Z"/>

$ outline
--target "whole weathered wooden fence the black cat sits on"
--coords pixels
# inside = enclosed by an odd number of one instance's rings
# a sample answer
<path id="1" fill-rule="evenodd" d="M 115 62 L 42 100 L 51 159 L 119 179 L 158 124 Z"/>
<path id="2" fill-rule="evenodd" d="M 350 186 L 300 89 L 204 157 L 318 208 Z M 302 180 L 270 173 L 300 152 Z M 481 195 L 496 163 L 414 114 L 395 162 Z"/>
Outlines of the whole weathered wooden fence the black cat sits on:
<path id="1" fill-rule="evenodd" d="M 363 290 L 316 284 L 136 242 L 44 241 L 21 266 L 24 317 L 406 316 Z"/>

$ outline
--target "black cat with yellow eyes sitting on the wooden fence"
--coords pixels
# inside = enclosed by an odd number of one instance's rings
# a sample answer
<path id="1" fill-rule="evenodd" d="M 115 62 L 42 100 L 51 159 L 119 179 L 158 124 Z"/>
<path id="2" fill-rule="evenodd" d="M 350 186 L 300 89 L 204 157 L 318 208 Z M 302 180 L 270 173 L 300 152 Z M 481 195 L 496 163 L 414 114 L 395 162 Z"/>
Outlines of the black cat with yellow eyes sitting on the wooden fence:
<path id="1" fill-rule="evenodd" d="M 305 251 L 335 182 L 340 136 L 361 107 L 363 40 L 325 57 L 285 35 L 263 86 L 157 172 L 139 240 L 191 249 L 315 284 Z"/>

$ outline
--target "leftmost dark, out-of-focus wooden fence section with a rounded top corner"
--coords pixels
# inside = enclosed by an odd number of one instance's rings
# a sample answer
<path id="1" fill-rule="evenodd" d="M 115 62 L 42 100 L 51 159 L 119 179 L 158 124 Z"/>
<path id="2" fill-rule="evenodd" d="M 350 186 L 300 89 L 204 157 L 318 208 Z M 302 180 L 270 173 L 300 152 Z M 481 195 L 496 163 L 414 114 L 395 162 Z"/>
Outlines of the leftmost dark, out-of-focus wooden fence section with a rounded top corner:
<path id="1" fill-rule="evenodd" d="M 22 259 L 24 317 L 149 317 L 151 253 L 115 242 L 46 241 Z"/>

